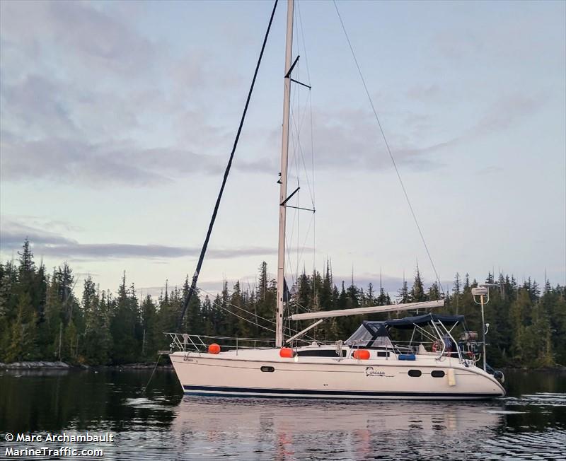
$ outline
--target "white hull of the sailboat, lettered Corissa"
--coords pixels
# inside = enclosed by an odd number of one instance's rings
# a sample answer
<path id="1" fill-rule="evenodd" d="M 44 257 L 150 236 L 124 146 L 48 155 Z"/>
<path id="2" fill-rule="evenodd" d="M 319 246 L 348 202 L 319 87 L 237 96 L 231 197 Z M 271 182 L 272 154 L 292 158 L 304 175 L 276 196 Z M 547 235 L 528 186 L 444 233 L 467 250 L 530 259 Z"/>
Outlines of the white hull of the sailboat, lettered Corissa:
<path id="1" fill-rule="evenodd" d="M 171 361 L 183 392 L 191 395 L 435 400 L 505 395 L 492 375 L 449 357 L 438 361 L 437 356 L 417 355 L 415 361 L 400 361 L 391 354 L 389 358 L 338 361 L 281 358 L 279 349 L 243 349 L 216 355 L 175 352 Z M 410 370 L 422 374 L 412 377 Z M 444 376 L 434 377 L 432 371 Z"/>

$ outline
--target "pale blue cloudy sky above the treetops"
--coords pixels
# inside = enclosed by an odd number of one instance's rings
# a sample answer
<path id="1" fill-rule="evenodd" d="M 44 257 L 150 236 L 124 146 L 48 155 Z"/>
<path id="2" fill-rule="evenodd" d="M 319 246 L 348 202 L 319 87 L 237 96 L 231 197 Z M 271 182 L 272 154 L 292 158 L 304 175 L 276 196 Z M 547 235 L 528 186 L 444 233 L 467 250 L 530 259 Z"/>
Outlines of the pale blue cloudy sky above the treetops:
<path id="1" fill-rule="evenodd" d="M 269 1 L 0 2 L 0 257 L 101 289 L 195 271 Z M 566 2 L 337 1 L 444 288 L 566 283 Z M 277 267 L 286 2 L 200 273 Z M 287 279 L 436 278 L 333 3 L 297 1 Z"/>

